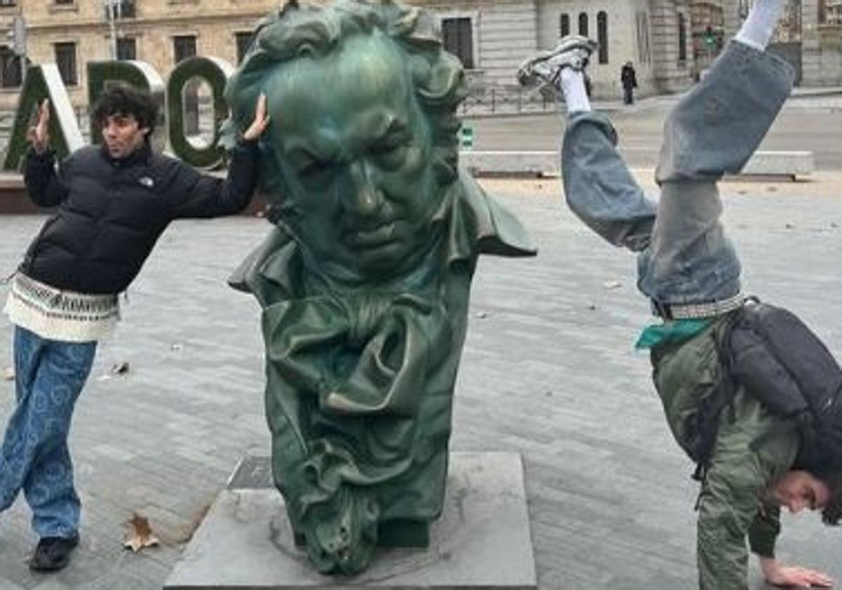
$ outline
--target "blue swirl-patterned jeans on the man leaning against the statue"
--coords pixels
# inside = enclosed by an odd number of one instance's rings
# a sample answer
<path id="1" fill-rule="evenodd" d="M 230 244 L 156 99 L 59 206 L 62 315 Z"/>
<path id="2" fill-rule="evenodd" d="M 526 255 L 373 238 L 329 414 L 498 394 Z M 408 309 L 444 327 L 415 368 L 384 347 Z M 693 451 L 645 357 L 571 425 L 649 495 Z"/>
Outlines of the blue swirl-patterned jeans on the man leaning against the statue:
<path id="1" fill-rule="evenodd" d="M 17 406 L 0 448 L 0 512 L 23 489 L 40 538 L 72 537 L 79 528 L 67 435 L 96 347 L 96 342 L 51 341 L 14 329 Z"/>

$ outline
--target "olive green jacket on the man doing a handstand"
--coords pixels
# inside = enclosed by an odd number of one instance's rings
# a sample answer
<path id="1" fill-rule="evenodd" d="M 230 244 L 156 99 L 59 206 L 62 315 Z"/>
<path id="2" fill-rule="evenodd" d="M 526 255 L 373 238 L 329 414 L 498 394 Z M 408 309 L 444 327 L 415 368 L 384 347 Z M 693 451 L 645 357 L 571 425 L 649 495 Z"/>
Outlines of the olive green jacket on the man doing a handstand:
<path id="1" fill-rule="evenodd" d="M 717 384 L 717 340 L 727 316 L 678 344 L 653 348 L 653 381 L 675 440 L 686 448 L 685 422 Z M 800 437 L 794 423 L 771 416 L 740 388 L 720 416 L 717 442 L 699 496 L 696 553 L 702 590 L 746 590 L 751 550 L 774 557 L 780 509 L 760 496 L 791 469 Z"/>

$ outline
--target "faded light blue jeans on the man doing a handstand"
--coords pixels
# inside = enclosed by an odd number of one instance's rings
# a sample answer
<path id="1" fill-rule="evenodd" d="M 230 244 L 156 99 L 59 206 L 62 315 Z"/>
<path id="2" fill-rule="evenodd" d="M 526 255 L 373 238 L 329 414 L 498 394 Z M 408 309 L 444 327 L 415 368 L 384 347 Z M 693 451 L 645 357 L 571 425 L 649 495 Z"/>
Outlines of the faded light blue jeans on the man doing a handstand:
<path id="1" fill-rule="evenodd" d="M 780 57 L 731 42 L 664 125 L 649 200 L 617 153 L 599 113 L 572 113 L 562 145 L 568 206 L 611 244 L 638 252 L 637 287 L 658 303 L 737 295 L 740 264 L 722 229 L 717 180 L 749 161 L 792 88 Z"/>

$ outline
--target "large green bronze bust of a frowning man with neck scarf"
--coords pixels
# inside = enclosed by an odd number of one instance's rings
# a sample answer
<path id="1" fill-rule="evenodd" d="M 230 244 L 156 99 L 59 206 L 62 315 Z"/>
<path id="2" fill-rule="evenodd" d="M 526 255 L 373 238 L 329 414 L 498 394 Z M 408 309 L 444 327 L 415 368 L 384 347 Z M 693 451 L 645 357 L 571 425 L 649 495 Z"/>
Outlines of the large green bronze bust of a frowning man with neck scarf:
<path id="1" fill-rule="evenodd" d="M 534 255 L 457 166 L 461 63 L 428 13 L 288 4 L 226 88 L 258 95 L 275 228 L 232 277 L 263 307 L 275 484 L 325 573 L 425 546 L 442 510 L 452 396 L 480 254 Z"/>

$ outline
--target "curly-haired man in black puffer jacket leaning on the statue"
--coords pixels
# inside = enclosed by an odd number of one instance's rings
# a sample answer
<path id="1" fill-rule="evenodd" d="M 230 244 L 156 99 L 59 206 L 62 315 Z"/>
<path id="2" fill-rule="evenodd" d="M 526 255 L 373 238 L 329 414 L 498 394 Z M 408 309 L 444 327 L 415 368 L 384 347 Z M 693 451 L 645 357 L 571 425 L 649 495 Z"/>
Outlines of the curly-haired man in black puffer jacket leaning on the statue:
<path id="1" fill-rule="evenodd" d="M 0 512 L 24 491 L 40 539 L 33 570 L 67 566 L 79 541 L 81 503 L 67 437 L 97 342 L 120 319 L 118 296 L 169 223 L 248 206 L 258 137 L 268 123 L 265 98 L 250 109 L 223 180 L 153 153 L 157 105 L 123 84 L 106 88 L 93 105 L 101 145 L 78 149 L 56 171 L 49 101 L 40 105 L 24 181 L 30 199 L 55 212 L 29 245 L 4 308 L 14 324 L 17 405 L 0 447 Z"/>

